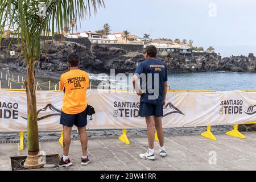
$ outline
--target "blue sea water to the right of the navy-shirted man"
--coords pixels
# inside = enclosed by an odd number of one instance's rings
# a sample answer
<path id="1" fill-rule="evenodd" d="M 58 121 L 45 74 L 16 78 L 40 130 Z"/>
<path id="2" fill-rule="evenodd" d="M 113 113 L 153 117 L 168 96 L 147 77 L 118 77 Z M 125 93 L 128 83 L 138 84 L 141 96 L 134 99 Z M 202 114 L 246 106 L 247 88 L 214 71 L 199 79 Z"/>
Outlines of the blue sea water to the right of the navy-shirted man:
<path id="1" fill-rule="evenodd" d="M 173 90 L 256 90 L 256 73 L 205 72 L 168 75 Z"/>

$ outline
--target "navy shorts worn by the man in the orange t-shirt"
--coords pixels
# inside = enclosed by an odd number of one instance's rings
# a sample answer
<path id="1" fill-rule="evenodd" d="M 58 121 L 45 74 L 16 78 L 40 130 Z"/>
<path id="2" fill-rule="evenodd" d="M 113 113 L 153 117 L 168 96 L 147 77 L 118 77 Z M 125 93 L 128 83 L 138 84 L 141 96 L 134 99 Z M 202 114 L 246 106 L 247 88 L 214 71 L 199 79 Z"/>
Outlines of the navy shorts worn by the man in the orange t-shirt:
<path id="1" fill-rule="evenodd" d="M 79 114 L 66 114 L 61 111 L 60 124 L 68 127 L 85 127 L 87 125 L 86 109 Z"/>

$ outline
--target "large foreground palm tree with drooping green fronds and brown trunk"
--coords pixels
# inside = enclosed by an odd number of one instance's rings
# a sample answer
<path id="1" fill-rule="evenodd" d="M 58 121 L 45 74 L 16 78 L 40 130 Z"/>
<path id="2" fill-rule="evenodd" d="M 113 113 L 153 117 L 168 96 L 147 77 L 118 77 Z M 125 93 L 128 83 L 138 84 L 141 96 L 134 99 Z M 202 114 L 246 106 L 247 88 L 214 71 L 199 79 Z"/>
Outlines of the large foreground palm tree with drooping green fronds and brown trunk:
<path id="1" fill-rule="evenodd" d="M 43 4 L 43 6 L 42 6 Z M 103 0 L 1 0 L 0 40 L 6 27 L 19 36 L 19 49 L 27 63 L 27 80 L 24 81 L 27 94 L 27 141 L 28 156 L 24 166 L 40 168 L 43 158 L 39 154 L 38 122 L 36 114 L 35 61 L 40 60 L 40 39 L 49 28 L 52 37 L 67 27 L 69 20 L 83 19 L 104 5 Z M 80 12 L 81 14 L 77 14 Z M 48 35 L 46 35 L 48 36 Z"/>

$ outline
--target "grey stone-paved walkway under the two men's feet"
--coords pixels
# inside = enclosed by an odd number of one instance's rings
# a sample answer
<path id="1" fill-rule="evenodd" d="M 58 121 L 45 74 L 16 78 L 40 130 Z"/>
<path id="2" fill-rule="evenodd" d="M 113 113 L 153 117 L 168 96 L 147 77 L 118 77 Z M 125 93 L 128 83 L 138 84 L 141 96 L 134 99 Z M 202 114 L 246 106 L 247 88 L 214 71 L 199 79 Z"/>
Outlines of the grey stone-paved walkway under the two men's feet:
<path id="1" fill-rule="evenodd" d="M 130 146 L 118 139 L 89 140 L 91 163 L 80 166 L 81 147 L 72 141 L 70 157 L 73 166 L 57 170 L 256 170 L 256 133 L 245 133 L 246 139 L 216 135 L 217 141 L 200 135 L 166 137 L 167 158 L 159 157 L 156 144 L 155 162 L 138 158 L 147 150 L 146 138 L 130 138 Z M 26 147 L 26 146 L 25 146 Z M 18 144 L 0 144 L 0 170 L 10 170 L 10 156 L 26 155 Z M 46 154 L 62 154 L 58 142 L 40 143 Z M 214 159 L 217 159 L 216 161 Z M 210 163 L 209 163 L 210 162 Z M 54 169 L 54 170 L 56 170 Z"/>

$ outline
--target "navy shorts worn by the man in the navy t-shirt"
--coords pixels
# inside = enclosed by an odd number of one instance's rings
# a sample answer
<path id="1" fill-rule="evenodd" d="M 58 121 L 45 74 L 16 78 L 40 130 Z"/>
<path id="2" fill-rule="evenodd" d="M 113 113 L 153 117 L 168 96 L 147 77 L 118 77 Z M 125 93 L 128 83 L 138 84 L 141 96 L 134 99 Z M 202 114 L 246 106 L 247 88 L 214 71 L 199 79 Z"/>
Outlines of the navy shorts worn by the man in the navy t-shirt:
<path id="1" fill-rule="evenodd" d="M 155 105 L 146 102 L 141 102 L 139 105 L 139 116 L 163 117 L 163 105 Z"/>

